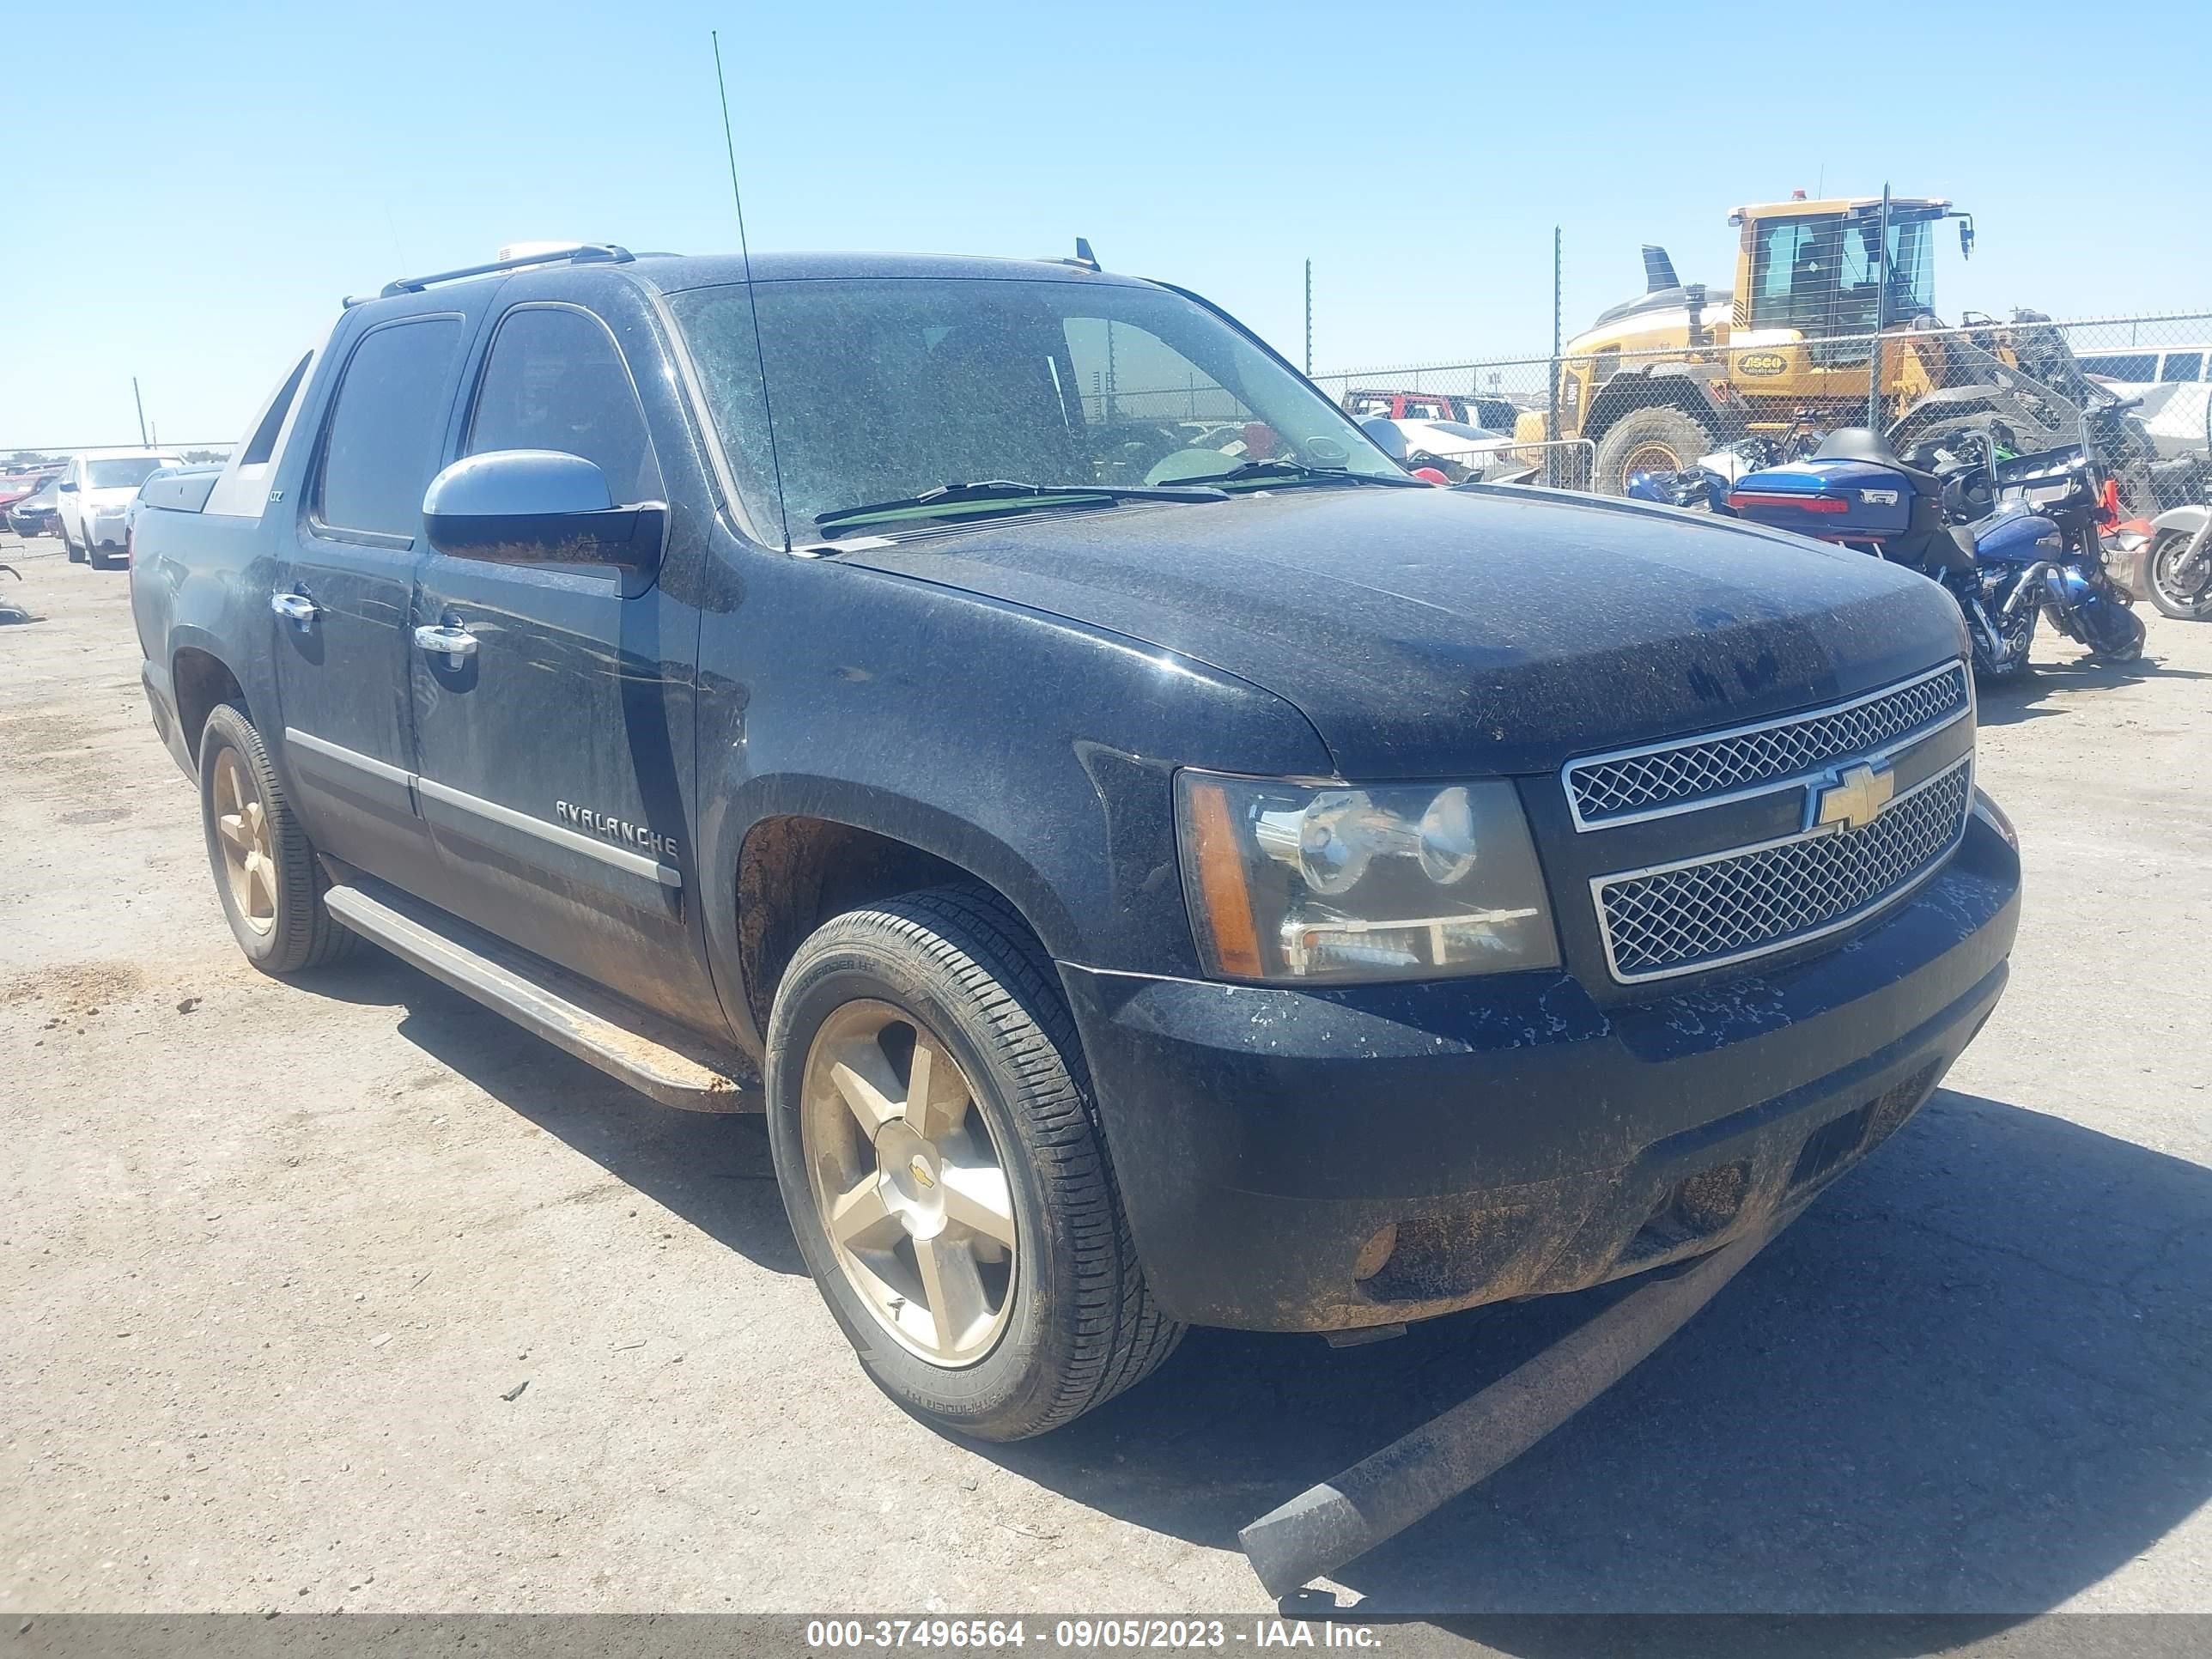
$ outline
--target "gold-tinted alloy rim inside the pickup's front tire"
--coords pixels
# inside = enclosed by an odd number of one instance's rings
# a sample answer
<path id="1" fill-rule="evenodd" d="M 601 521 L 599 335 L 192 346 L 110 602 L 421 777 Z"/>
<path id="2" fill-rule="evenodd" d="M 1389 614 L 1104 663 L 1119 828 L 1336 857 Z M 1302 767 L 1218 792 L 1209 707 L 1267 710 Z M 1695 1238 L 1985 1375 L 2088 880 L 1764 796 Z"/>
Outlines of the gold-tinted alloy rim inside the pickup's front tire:
<path id="1" fill-rule="evenodd" d="M 799 1144 L 830 1250 L 909 1354 L 958 1369 L 1013 1312 L 1013 1190 L 945 1044 L 889 1002 L 832 1013 L 807 1048 Z"/>

